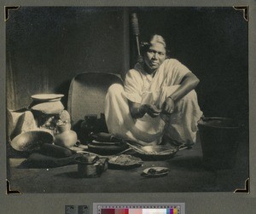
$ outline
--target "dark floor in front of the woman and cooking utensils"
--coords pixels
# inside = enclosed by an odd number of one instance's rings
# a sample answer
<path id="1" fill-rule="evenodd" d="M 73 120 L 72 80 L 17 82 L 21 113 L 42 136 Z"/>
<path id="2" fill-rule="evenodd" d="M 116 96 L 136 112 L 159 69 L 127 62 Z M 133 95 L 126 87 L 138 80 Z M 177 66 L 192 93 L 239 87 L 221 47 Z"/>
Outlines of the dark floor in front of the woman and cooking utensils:
<path id="1" fill-rule="evenodd" d="M 172 159 L 144 161 L 141 167 L 131 170 L 108 169 L 96 178 L 79 177 L 77 165 L 36 169 L 22 165 L 23 160 L 9 159 L 11 188 L 22 193 L 234 192 L 244 188 L 249 177 L 247 137 L 241 137 L 235 166 L 226 170 L 205 167 L 200 141 Z M 156 178 L 141 176 L 152 166 L 165 166 L 170 172 Z"/>

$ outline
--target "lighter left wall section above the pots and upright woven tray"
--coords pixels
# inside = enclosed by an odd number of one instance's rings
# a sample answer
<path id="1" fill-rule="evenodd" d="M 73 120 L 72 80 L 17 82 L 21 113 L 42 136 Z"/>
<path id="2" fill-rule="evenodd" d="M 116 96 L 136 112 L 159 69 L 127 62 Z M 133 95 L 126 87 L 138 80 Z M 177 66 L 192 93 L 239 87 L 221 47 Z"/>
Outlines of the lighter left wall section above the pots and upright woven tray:
<path id="1" fill-rule="evenodd" d="M 121 8 L 21 7 L 6 27 L 9 108 L 27 107 L 38 93 L 63 93 L 67 104 L 76 74 L 125 70 Z"/>

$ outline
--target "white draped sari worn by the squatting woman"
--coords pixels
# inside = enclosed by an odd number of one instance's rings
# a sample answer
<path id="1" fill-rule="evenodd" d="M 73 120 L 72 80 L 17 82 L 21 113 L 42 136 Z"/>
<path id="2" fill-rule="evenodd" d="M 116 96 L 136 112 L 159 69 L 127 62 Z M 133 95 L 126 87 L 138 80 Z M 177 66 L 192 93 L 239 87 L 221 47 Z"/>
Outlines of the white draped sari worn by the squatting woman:
<path id="1" fill-rule="evenodd" d="M 174 59 L 164 61 L 154 76 L 137 64 L 127 72 L 125 87 L 113 84 L 108 89 L 105 116 L 109 132 L 143 145 L 159 144 L 164 135 L 174 142 L 194 144 L 197 122 L 202 115 L 195 90 L 177 101 L 171 115 L 161 113 L 159 117 L 151 118 L 146 113 L 141 119 L 132 119 L 128 105 L 130 100 L 161 108 L 188 72 L 187 67 Z"/>

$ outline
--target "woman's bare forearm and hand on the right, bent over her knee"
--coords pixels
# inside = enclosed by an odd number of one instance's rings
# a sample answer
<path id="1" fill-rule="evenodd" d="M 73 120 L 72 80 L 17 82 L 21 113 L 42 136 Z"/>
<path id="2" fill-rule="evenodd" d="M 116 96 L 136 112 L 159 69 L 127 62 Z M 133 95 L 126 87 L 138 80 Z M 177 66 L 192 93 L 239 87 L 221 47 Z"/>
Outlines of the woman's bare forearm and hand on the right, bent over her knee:
<path id="1" fill-rule="evenodd" d="M 181 82 L 180 87 L 172 93 L 169 97 L 166 98 L 165 103 L 163 104 L 163 111 L 166 113 L 172 113 L 175 107 L 175 103 L 183 98 L 184 95 L 187 95 L 191 90 L 194 90 L 200 80 L 195 76 L 194 73 L 187 73 Z"/>

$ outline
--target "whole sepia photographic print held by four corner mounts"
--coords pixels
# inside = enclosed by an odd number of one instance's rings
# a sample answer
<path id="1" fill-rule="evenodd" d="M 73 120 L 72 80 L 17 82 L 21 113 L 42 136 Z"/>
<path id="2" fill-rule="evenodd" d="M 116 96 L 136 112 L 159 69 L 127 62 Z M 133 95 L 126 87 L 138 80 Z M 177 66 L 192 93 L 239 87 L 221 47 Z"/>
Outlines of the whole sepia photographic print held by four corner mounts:
<path id="1" fill-rule="evenodd" d="M 22 6 L 5 24 L 13 190 L 245 188 L 246 7 Z"/>

